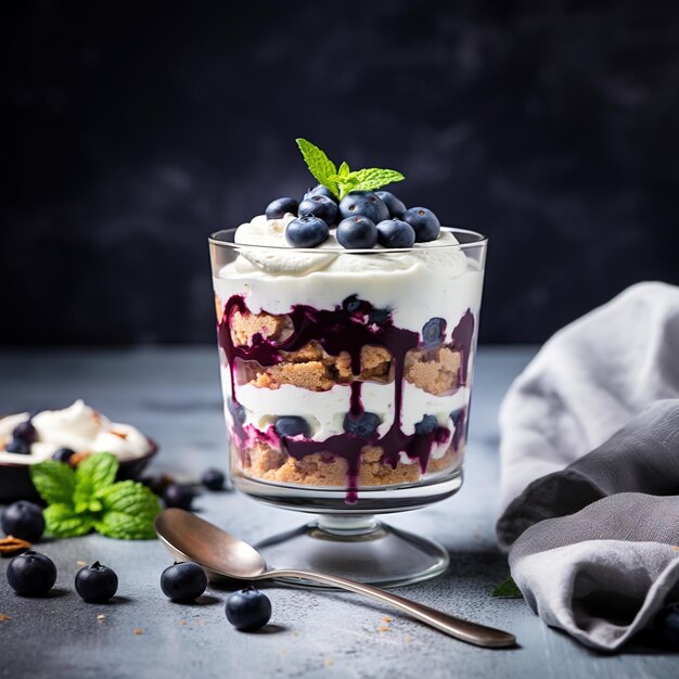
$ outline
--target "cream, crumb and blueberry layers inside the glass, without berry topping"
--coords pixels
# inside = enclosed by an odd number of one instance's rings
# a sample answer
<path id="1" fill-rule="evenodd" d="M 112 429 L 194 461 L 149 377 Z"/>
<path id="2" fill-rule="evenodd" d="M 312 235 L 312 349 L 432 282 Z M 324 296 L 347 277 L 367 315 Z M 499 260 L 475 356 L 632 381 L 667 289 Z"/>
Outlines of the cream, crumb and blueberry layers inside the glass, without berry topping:
<path id="1" fill-rule="evenodd" d="M 236 475 L 351 501 L 460 467 L 483 271 L 456 243 L 235 246 L 214 285 Z"/>

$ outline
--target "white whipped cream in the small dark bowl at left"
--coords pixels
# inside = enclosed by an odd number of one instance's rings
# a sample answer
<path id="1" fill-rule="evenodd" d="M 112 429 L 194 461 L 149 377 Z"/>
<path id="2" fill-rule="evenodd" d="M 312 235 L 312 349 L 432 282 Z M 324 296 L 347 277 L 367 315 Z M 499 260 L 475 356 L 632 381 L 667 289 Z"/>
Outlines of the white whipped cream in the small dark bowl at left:
<path id="1" fill-rule="evenodd" d="M 29 454 L 8 452 L 4 447 L 12 439 L 14 427 L 31 421 L 38 440 Z M 27 412 L 0 419 L 0 462 L 36 464 L 52 457 L 60 448 L 75 452 L 111 452 L 119 461 L 141 458 L 153 449 L 153 444 L 136 427 L 111 422 L 82 400 L 61 410 L 43 410 L 33 418 Z"/>

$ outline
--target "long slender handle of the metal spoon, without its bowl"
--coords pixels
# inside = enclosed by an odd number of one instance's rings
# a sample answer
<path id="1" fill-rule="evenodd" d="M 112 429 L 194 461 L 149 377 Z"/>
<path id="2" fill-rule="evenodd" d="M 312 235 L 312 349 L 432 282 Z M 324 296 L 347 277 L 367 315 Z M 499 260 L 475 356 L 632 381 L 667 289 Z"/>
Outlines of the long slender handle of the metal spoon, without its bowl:
<path id="1" fill-rule="evenodd" d="M 398 594 L 393 594 L 383 589 L 371 587 L 370 585 L 363 585 L 362 582 L 356 582 L 348 580 L 336 575 L 325 575 L 322 573 L 309 573 L 306 571 L 269 571 L 257 579 L 265 578 L 303 578 L 305 580 L 312 580 L 315 582 L 322 582 L 323 585 L 334 585 L 341 589 L 347 589 L 351 592 L 364 594 L 371 599 L 376 599 L 382 603 L 389 604 L 399 611 L 408 613 L 408 615 L 422 620 L 431 627 L 460 639 L 467 643 L 473 643 L 477 646 L 485 646 L 487 649 L 502 649 L 507 646 L 513 646 L 516 643 L 516 637 L 509 632 L 492 627 L 486 627 L 485 625 L 478 625 L 471 623 L 462 618 L 447 615 L 430 606 L 425 606 L 414 601 L 403 599 Z"/>

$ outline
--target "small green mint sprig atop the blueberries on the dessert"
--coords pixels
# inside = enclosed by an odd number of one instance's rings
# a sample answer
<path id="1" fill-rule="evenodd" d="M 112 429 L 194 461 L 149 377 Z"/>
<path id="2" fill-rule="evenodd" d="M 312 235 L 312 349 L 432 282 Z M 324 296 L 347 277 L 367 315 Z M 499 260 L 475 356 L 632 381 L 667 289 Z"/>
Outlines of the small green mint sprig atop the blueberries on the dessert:
<path id="1" fill-rule="evenodd" d="M 342 200 L 351 191 L 374 191 L 386 184 L 406 179 L 400 172 L 379 167 L 368 167 L 351 171 L 346 162 L 340 168 L 328 157 L 324 151 L 306 139 L 296 139 L 299 151 L 311 175 L 328 187 L 337 198 Z"/>

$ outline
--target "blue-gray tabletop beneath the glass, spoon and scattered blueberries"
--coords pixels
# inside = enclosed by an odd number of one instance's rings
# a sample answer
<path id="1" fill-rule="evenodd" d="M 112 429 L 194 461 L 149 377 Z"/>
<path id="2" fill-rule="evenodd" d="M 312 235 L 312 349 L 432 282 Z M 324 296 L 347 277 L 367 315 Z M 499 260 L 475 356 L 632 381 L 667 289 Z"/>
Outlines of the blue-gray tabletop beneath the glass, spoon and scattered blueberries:
<path id="1" fill-rule="evenodd" d="M 59 571 L 46 599 L 15 595 L 7 584 L 9 560 L 0 561 L 0 614 L 10 618 L 0 622 L 0 677 L 676 677 L 676 655 L 643 646 L 601 655 L 547 628 L 523 600 L 489 595 L 508 574 L 494 538 L 497 412 L 533 354 L 481 349 L 462 490 L 427 509 L 387 517 L 437 539 L 451 554 L 444 576 L 399 593 L 509 629 L 520 648 L 477 649 L 350 593 L 284 587 L 267 588 L 273 616 L 265 631 L 238 632 L 225 618 L 228 591 L 210 588 L 201 604 L 190 606 L 165 599 L 158 581 L 171 559 L 157 540 L 91 535 L 39 547 Z M 190 481 L 207 466 L 226 466 L 212 348 L 0 355 L 0 412 L 76 398 L 156 438 L 162 453 L 155 471 Z M 253 542 L 305 520 L 235 492 L 202 495 L 196 508 Z M 94 560 L 118 574 L 119 595 L 112 603 L 87 604 L 75 593 L 78 562 Z"/>

